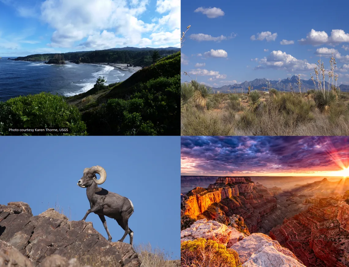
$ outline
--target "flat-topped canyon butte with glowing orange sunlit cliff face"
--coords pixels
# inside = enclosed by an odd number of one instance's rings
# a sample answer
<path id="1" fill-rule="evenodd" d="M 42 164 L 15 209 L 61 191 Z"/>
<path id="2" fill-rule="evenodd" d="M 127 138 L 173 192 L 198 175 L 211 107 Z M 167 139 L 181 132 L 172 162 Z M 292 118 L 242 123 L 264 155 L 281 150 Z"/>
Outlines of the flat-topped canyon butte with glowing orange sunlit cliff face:
<path id="1" fill-rule="evenodd" d="M 266 187 L 256 185 L 250 177 L 230 176 L 217 178 L 207 189 L 194 188 L 183 197 L 181 205 L 183 217 L 193 221 L 215 220 L 219 215 L 223 217 L 220 222 L 227 223 L 229 217 L 240 215 L 250 233 L 261 231 L 262 217 L 276 208 L 276 198 Z"/>

